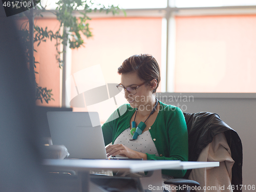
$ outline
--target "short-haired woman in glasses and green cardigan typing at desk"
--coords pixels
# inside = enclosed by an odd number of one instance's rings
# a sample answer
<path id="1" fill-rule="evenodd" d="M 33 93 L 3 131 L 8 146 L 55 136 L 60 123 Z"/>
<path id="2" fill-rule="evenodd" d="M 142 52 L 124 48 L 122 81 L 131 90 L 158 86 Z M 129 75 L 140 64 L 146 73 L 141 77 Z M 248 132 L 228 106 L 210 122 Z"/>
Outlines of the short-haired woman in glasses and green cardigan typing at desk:
<path id="1" fill-rule="evenodd" d="M 102 126 L 105 145 L 113 143 L 106 147 L 107 155 L 187 161 L 187 127 L 183 113 L 176 106 L 158 102 L 155 97 L 160 82 L 156 59 L 148 54 L 133 55 L 123 61 L 118 73 L 121 83 L 117 87 L 130 104 L 122 105 Z M 125 107 L 127 110 L 120 115 Z M 135 129 L 131 133 L 137 126 L 142 128 L 142 133 L 138 130 L 135 134 Z M 162 170 L 165 179 L 182 178 L 185 173 L 186 170 Z"/>

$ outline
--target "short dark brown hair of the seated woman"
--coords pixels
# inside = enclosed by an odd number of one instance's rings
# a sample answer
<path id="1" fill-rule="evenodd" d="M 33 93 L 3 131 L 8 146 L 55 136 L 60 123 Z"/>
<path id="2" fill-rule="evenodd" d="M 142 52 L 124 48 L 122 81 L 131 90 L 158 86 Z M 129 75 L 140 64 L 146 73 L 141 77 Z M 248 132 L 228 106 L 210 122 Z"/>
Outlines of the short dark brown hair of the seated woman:
<path id="1" fill-rule="evenodd" d="M 154 89 L 153 93 L 156 92 L 161 77 L 157 60 L 152 55 L 133 55 L 125 59 L 122 65 L 118 68 L 117 73 L 121 75 L 122 73 L 125 74 L 130 72 L 136 72 L 139 78 L 146 81 L 149 86 L 152 86 L 150 81 L 156 79 L 157 87 Z"/>

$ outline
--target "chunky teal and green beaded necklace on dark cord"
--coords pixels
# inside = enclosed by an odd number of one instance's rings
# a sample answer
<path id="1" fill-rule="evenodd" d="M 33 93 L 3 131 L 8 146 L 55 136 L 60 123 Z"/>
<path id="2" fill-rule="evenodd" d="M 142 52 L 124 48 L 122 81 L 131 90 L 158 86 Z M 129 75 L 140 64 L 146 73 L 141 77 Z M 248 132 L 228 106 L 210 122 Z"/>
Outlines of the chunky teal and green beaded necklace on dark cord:
<path id="1" fill-rule="evenodd" d="M 157 103 L 155 104 L 152 112 L 150 113 L 150 115 L 148 115 L 146 120 L 156 111 L 157 104 L 158 104 L 158 99 L 156 98 L 156 100 L 157 100 Z M 133 135 L 133 139 L 130 139 L 131 141 L 137 139 L 137 137 L 142 134 L 143 130 L 146 127 L 146 124 L 145 124 L 146 120 L 145 120 L 144 122 L 140 121 L 140 123 L 138 124 L 137 128 L 135 128 L 136 127 L 135 119 L 136 119 L 137 111 L 138 111 L 138 108 L 136 109 L 134 121 L 132 121 L 131 134 Z"/>

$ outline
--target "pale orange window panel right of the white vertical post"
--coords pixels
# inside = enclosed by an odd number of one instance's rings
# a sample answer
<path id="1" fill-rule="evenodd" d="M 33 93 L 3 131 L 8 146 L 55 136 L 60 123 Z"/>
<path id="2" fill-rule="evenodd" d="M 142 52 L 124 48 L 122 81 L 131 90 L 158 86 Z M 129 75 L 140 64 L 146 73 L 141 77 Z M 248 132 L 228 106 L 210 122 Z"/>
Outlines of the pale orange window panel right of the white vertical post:
<path id="1" fill-rule="evenodd" d="M 177 16 L 175 92 L 256 92 L 256 15 Z"/>

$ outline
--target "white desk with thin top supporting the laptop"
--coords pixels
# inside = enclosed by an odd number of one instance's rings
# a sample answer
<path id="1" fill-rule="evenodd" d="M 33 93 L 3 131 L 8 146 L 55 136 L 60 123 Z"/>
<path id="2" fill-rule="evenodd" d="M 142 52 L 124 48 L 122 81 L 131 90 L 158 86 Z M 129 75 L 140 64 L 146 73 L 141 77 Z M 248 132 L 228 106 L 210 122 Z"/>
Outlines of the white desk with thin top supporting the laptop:
<path id="1" fill-rule="evenodd" d="M 140 178 L 141 184 L 144 189 L 148 188 L 148 185 L 159 185 L 161 180 L 161 169 L 193 169 L 203 167 L 215 167 L 219 166 L 219 162 L 181 162 L 181 161 L 141 161 L 141 160 L 44 160 L 43 164 L 53 169 L 72 169 L 81 174 L 82 191 L 100 191 L 97 186 L 90 183 L 89 171 L 90 170 L 121 170 L 129 171 L 132 173 L 141 171 L 154 171 L 150 177 Z M 154 178 L 154 179 L 153 179 Z M 157 191 L 157 190 L 156 190 Z"/>

